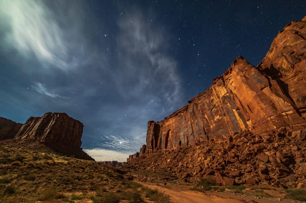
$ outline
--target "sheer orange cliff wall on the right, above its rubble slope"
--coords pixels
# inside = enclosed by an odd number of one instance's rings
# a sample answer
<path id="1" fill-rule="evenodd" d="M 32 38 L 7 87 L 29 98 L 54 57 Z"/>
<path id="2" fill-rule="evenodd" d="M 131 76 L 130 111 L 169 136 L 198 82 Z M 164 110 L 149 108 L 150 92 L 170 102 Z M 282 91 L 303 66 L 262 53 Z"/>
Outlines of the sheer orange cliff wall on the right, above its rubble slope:
<path id="1" fill-rule="evenodd" d="M 149 121 L 145 153 L 305 123 L 305 37 L 306 16 L 279 32 L 257 67 L 239 56 L 188 105 L 162 121 Z"/>

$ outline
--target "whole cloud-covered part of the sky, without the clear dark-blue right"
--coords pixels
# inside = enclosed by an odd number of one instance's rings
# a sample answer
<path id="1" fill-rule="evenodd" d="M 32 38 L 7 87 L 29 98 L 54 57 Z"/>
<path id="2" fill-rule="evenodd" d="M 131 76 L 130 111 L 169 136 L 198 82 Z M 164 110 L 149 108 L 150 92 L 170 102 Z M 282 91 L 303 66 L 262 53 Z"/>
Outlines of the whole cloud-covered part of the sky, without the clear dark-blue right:
<path id="1" fill-rule="evenodd" d="M 96 160 L 125 161 L 145 144 L 147 121 L 182 100 L 167 30 L 139 10 L 111 21 L 78 1 L 17 0 L 0 2 L 0 17 L 0 116 L 66 112 Z"/>

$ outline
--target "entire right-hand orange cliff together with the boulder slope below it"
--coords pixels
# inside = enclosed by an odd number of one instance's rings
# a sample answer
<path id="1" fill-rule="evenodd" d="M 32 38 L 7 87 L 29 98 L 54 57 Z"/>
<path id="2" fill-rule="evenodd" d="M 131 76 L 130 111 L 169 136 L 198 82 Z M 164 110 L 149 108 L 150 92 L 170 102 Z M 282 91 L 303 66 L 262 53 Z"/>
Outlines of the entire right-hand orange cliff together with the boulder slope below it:
<path id="1" fill-rule="evenodd" d="M 146 145 L 122 170 L 153 182 L 304 187 L 305 78 L 306 16 L 279 31 L 258 66 L 238 56 L 205 92 L 149 121 Z"/>

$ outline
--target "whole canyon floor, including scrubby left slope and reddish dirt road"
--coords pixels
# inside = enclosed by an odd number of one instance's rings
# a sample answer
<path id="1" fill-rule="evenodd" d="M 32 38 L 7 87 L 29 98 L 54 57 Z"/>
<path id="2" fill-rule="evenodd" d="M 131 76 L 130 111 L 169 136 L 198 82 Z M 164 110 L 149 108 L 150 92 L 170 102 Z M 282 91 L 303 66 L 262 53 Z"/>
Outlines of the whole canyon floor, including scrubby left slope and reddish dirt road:
<path id="1" fill-rule="evenodd" d="M 128 179 L 124 171 L 61 155 L 35 140 L 0 141 L 0 202 L 306 201 L 306 191 L 297 188 Z"/>

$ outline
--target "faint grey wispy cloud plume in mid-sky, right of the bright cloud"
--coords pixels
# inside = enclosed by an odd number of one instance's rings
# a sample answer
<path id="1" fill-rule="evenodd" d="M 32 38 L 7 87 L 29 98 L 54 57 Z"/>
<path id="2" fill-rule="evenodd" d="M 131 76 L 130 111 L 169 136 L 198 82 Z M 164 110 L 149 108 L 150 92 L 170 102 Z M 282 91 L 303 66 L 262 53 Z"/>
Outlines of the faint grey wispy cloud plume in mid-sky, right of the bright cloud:
<path id="1" fill-rule="evenodd" d="M 120 86 L 126 83 L 133 86 L 132 91 L 122 91 L 122 94 L 147 94 L 148 105 L 157 101 L 173 106 L 181 96 L 177 62 L 167 50 L 165 30 L 162 27 L 154 28 L 145 19 L 140 12 L 130 11 L 118 22 L 121 29 L 117 40 L 120 65 L 129 73 L 120 80 L 123 83 Z"/>

